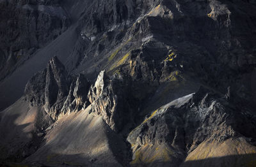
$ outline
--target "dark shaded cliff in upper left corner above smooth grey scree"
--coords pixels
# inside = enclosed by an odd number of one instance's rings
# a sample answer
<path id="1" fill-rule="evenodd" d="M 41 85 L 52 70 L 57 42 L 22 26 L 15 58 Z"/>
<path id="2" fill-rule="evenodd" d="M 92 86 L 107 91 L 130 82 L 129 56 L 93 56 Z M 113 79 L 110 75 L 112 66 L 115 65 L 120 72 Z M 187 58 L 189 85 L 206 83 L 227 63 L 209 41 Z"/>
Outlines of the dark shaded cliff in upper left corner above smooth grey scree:
<path id="1" fill-rule="evenodd" d="M 0 9 L 0 80 L 70 24 L 58 1 L 1 1 Z"/>

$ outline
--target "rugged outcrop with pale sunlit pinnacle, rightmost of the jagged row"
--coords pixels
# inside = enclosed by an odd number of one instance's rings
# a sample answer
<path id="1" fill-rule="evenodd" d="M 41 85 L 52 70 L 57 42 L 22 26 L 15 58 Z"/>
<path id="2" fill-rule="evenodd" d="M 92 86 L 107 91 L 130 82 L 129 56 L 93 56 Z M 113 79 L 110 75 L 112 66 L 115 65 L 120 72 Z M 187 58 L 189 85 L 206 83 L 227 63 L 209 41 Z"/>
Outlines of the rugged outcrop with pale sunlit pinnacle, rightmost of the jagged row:
<path id="1" fill-rule="evenodd" d="M 95 84 L 88 92 L 88 99 L 92 103 L 92 113 L 102 115 L 106 123 L 118 132 L 131 120 L 131 106 L 125 97 L 127 87 L 122 78 L 106 76 L 104 71 L 99 73 Z"/>

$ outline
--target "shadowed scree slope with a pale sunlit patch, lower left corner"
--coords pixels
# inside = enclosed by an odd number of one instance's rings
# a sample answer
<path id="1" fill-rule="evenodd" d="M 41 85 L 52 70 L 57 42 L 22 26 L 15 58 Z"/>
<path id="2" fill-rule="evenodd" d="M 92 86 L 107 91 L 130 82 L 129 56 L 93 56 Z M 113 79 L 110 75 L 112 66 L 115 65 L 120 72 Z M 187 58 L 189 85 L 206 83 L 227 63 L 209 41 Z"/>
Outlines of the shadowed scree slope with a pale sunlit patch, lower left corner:
<path id="1" fill-rule="evenodd" d="M 45 143 L 42 128 L 47 123 L 42 115 L 42 110 L 30 108 L 22 101 L 0 113 L 0 166 L 22 162 Z"/>

